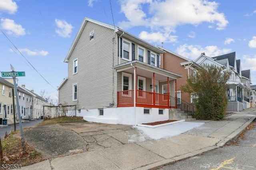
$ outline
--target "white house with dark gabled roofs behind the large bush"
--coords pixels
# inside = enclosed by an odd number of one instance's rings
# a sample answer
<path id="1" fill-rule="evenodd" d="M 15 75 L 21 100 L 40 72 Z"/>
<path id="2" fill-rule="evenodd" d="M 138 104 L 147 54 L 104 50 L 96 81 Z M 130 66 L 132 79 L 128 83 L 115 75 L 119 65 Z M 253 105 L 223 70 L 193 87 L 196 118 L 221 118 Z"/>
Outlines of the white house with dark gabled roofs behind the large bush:
<path id="1" fill-rule="evenodd" d="M 226 95 L 228 97 L 228 106 L 226 111 L 242 111 L 244 109 L 244 83 L 241 82 L 241 64 L 236 60 L 236 52 L 208 57 L 202 53 L 196 60 L 199 65 L 215 64 L 224 67 L 230 72 L 230 78 L 226 83 Z"/>

